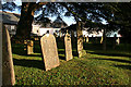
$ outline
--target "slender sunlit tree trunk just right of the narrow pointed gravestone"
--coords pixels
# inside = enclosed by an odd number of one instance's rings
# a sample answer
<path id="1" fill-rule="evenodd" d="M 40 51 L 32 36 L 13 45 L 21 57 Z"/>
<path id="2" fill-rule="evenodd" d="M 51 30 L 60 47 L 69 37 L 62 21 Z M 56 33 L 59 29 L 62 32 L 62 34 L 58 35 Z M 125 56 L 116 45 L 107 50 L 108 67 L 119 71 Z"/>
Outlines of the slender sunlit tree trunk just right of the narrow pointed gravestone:
<path id="1" fill-rule="evenodd" d="M 85 51 L 83 50 L 83 34 L 82 34 L 82 22 L 76 23 L 76 37 L 78 37 L 78 54 L 79 58 L 83 57 L 85 54 Z"/>

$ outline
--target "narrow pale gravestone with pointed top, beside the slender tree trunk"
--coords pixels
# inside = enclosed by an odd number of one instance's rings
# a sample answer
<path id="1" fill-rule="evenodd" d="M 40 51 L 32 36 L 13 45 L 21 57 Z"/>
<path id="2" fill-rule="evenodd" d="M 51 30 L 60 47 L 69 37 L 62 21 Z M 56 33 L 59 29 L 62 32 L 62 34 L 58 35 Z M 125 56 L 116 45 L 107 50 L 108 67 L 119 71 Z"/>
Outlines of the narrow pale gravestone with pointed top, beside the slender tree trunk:
<path id="1" fill-rule="evenodd" d="M 64 46 L 66 46 L 66 60 L 69 61 L 73 59 L 73 55 L 72 55 L 72 47 L 71 47 L 71 37 L 68 34 L 68 30 L 64 37 Z"/>

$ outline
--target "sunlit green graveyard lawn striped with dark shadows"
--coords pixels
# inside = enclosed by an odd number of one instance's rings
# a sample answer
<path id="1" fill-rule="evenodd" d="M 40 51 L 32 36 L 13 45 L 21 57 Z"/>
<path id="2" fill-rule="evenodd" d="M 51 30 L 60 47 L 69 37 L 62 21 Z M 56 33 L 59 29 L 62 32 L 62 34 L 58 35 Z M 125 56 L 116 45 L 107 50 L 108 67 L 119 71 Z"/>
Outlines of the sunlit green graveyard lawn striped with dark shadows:
<path id="1" fill-rule="evenodd" d="M 87 54 L 64 61 L 64 49 L 58 44 L 60 66 L 44 71 L 39 47 L 25 55 L 22 45 L 12 45 L 16 85 L 130 85 L 131 52 L 128 47 L 103 51 L 100 45 L 85 44 Z M 119 50 L 122 49 L 122 50 Z M 15 86 L 16 86 L 15 85 Z"/>

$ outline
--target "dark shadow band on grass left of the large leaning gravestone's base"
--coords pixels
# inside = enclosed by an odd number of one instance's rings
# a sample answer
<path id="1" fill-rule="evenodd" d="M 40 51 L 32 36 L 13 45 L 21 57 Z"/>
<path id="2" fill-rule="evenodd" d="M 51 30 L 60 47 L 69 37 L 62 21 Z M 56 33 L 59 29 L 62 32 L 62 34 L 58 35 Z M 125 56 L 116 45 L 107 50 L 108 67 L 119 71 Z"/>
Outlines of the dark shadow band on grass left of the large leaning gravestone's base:
<path id="1" fill-rule="evenodd" d="M 13 59 L 14 65 L 26 66 L 26 67 L 36 67 L 39 70 L 45 70 L 45 64 L 43 61 L 38 60 L 25 60 L 25 59 Z"/>

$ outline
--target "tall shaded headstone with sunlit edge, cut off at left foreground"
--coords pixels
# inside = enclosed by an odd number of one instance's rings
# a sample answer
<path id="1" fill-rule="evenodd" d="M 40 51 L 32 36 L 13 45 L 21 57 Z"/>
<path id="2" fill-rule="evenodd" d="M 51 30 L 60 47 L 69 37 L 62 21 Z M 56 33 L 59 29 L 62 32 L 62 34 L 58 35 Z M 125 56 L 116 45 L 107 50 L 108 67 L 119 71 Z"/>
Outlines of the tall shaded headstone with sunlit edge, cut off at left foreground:
<path id="1" fill-rule="evenodd" d="M 14 85 L 15 75 L 12 60 L 10 35 L 7 28 L 2 29 L 2 85 Z"/>

